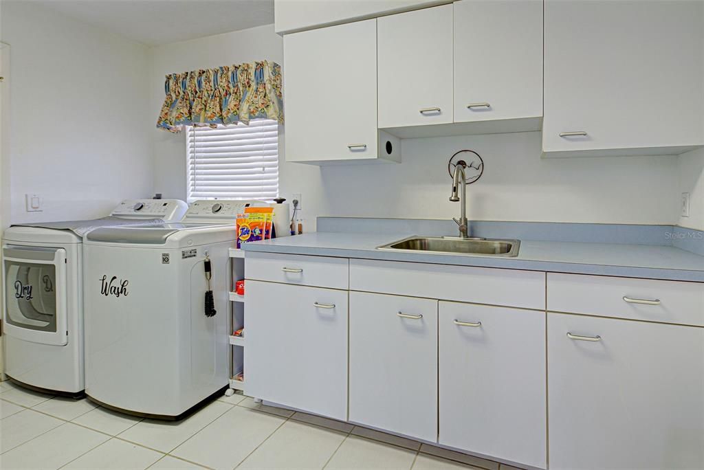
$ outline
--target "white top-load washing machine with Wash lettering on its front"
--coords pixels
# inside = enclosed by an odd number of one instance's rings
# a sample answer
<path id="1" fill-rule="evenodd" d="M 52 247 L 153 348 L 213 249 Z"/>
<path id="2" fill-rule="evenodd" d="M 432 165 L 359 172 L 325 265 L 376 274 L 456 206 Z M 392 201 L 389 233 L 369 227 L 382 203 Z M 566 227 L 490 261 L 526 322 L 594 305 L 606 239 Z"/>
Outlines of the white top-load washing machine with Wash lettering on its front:
<path id="1" fill-rule="evenodd" d="M 227 388 L 230 248 L 237 214 L 247 205 L 261 203 L 196 201 L 182 223 L 87 234 L 86 395 L 91 400 L 130 414 L 180 419 Z M 275 213 L 287 209 L 282 205 Z M 280 217 L 287 219 L 288 213 Z M 217 312 L 211 317 L 204 305 L 206 258 Z"/>

